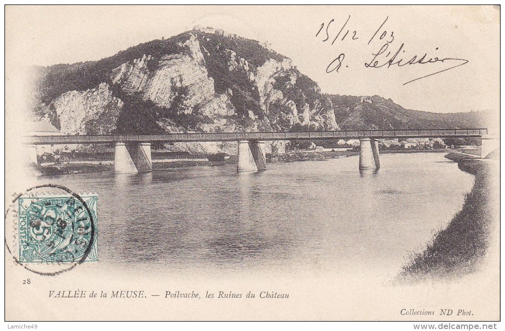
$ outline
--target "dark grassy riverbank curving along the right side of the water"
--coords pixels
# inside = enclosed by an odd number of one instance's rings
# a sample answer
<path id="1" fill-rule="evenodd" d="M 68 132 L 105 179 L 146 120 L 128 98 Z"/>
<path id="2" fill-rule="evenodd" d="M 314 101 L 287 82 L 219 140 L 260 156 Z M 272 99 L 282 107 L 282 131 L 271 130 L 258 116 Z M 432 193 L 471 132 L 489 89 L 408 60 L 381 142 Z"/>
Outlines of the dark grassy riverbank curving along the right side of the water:
<path id="1" fill-rule="evenodd" d="M 414 253 L 396 282 L 458 277 L 479 270 L 499 227 L 497 160 L 451 152 L 445 156 L 475 175 L 472 190 L 447 226 L 434 234 L 421 253 Z M 496 157 L 496 155 L 494 155 Z M 498 212 L 497 212 L 498 211 Z M 499 230 L 498 230 L 499 231 Z"/>

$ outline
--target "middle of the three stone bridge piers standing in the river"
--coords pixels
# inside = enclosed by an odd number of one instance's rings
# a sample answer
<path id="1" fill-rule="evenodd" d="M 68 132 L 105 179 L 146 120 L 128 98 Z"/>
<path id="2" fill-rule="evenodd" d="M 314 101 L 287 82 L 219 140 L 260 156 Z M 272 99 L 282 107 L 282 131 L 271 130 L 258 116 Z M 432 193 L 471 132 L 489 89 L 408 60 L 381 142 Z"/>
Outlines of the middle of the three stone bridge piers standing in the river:
<path id="1" fill-rule="evenodd" d="M 240 140 L 237 145 L 237 172 L 252 172 L 267 169 L 264 141 Z"/>

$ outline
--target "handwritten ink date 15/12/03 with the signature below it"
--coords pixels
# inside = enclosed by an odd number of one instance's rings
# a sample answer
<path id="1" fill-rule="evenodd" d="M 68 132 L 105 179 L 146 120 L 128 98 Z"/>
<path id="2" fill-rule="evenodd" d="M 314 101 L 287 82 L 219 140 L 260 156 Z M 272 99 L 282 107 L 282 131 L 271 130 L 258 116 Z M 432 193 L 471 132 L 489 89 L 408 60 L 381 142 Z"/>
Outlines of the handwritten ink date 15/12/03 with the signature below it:
<path id="1" fill-rule="evenodd" d="M 405 67 L 408 65 L 427 65 L 430 63 L 437 63 L 437 62 L 442 62 L 442 63 L 448 63 L 449 66 L 445 69 L 439 70 L 437 72 L 433 72 L 412 80 L 409 80 L 406 83 L 403 83 L 403 85 L 406 85 L 408 83 L 412 83 L 413 81 L 420 80 L 429 76 L 433 76 L 436 74 L 439 74 L 441 72 L 454 69 L 456 67 L 462 66 L 464 64 L 468 63 L 468 60 L 465 59 L 458 59 L 458 58 L 443 58 L 440 59 L 438 57 L 429 57 L 427 53 L 424 53 L 424 55 L 419 56 L 419 55 L 414 55 L 410 58 L 403 59 L 404 53 L 405 53 L 405 43 L 401 43 L 398 48 L 394 49 L 392 45 L 392 42 L 395 38 L 394 31 L 388 31 L 384 29 L 384 25 L 386 24 L 387 20 L 389 17 L 386 17 L 384 22 L 379 26 L 379 28 L 375 31 L 375 33 L 372 35 L 372 37 L 368 40 L 368 45 L 372 42 L 374 39 L 379 39 L 384 42 L 382 44 L 381 48 L 377 52 L 372 52 L 372 60 L 365 62 L 365 67 L 366 68 L 391 68 L 392 66 L 397 66 L 397 67 Z M 338 44 L 339 42 L 342 42 L 344 40 L 349 40 L 349 41 L 354 41 L 354 40 L 359 40 L 360 35 L 357 30 L 351 31 L 350 29 L 346 28 L 347 24 L 349 23 L 350 20 L 350 15 L 347 17 L 347 20 L 345 23 L 342 25 L 337 25 L 335 23 L 335 20 L 332 19 L 328 23 L 321 23 L 321 26 L 316 33 L 317 38 L 323 38 L 323 42 L 330 42 L 331 45 L 333 44 Z M 336 33 L 336 34 L 335 34 Z M 333 37 L 335 36 L 335 37 Z M 438 51 L 438 47 L 435 49 L 435 51 Z M 345 59 L 345 54 L 341 53 L 336 57 L 333 61 L 330 62 L 328 67 L 326 67 L 326 72 L 327 73 L 332 73 L 332 72 L 338 72 L 342 65 L 344 65 L 344 59 Z M 345 65 L 345 67 L 348 67 Z"/>

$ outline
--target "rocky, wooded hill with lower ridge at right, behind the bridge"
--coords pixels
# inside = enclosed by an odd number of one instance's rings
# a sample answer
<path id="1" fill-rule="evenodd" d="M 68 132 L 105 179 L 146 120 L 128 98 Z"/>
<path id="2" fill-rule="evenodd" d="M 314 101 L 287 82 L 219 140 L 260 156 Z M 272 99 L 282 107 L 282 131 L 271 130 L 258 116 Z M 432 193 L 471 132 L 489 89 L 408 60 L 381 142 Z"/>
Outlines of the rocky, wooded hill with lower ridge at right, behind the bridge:
<path id="1" fill-rule="evenodd" d="M 35 119 L 65 134 L 477 127 L 481 113 L 406 110 L 380 97 L 322 94 L 256 40 L 195 27 L 99 61 L 33 68 Z M 272 149 L 282 149 L 275 142 Z M 179 144 L 218 152 L 229 143 Z M 185 146 L 185 147 L 184 147 Z M 175 147 L 174 147 L 175 148 Z"/>

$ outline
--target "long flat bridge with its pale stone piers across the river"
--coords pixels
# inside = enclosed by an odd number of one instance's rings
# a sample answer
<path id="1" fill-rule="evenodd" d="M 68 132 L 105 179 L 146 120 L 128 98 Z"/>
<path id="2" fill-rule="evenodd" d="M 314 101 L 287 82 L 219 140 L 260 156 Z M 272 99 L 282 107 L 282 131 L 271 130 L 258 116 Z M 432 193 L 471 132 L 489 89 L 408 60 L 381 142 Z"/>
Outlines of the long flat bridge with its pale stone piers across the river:
<path id="1" fill-rule="evenodd" d="M 360 169 L 380 167 L 378 139 L 383 138 L 482 138 L 482 155 L 486 157 L 496 146 L 495 136 L 487 128 L 469 129 L 390 129 L 390 130 L 340 130 L 340 131 L 285 131 L 285 132 L 210 132 L 166 134 L 104 134 L 104 135 L 43 135 L 26 136 L 24 143 L 35 153 L 36 145 L 116 144 L 115 173 L 136 173 L 152 170 L 150 145 L 156 141 L 187 143 L 204 141 L 237 141 L 238 172 L 258 171 L 267 168 L 265 141 L 272 140 L 323 140 L 360 139 Z"/>

